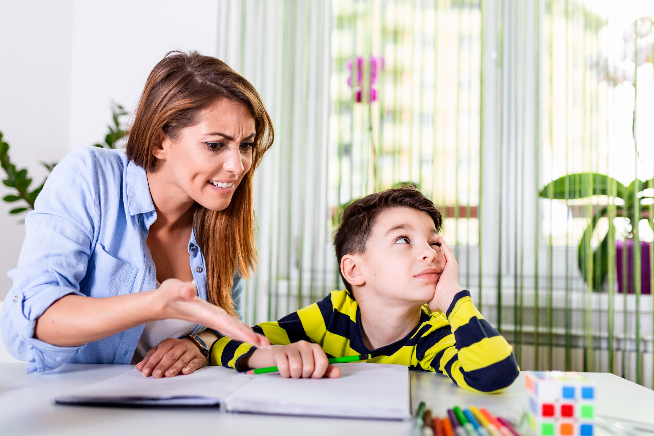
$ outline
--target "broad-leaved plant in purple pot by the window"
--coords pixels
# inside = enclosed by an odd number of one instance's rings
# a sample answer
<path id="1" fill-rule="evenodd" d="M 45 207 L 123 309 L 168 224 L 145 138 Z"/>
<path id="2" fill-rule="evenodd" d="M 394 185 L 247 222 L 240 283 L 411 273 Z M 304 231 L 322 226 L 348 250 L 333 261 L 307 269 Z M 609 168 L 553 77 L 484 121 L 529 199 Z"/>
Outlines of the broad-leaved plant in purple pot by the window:
<path id="1" fill-rule="evenodd" d="M 627 273 L 628 291 L 634 292 L 634 280 L 632 274 L 629 274 L 630 271 L 634 271 L 634 235 L 638 234 L 636 227 L 642 218 L 649 218 L 649 226 L 652 226 L 651 214 L 653 205 L 651 205 L 651 202 L 653 200 L 647 202 L 649 207 L 645 210 L 643 210 L 641 201 L 645 198 L 653 198 L 651 190 L 644 192 L 646 189 L 653 187 L 654 179 L 647 180 L 646 182 L 636 179 L 631 182 L 629 186 L 624 186 L 614 178 L 606 175 L 596 173 L 577 173 L 562 176 L 557 178 L 557 180 L 550 182 L 540 192 L 540 196 L 547 199 L 572 200 L 589 198 L 593 195 L 608 195 L 609 197 L 623 200 L 623 204 L 613 205 L 613 207 L 615 207 L 615 216 L 628 218 L 632 226 L 632 231 L 627 233 L 625 243 L 622 241 L 617 241 L 616 243 L 617 255 L 615 256 L 615 262 L 618 273 L 618 292 L 624 292 L 622 280 L 623 273 Z M 578 261 L 579 270 L 581 271 L 581 275 L 585 282 L 591 284 L 594 292 L 600 292 L 608 273 L 608 244 L 613 243 L 613 241 L 609 241 L 609 236 L 615 235 L 615 227 L 613 226 L 613 222 L 610 220 L 609 226 L 612 231 L 608 231 L 598 247 L 593 250 L 590 243 L 591 237 L 593 237 L 593 231 L 600 218 L 604 216 L 608 217 L 609 206 L 597 205 L 596 210 L 593 212 L 594 214 L 591 218 L 591 222 L 583 232 L 581 241 L 579 241 Z M 627 247 L 628 250 L 627 265 L 624 265 L 627 266 L 626 271 L 623 267 L 623 250 L 625 247 Z M 642 293 L 649 293 L 649 243 L 641 241 L 641 250 L 641 289 Z"/>

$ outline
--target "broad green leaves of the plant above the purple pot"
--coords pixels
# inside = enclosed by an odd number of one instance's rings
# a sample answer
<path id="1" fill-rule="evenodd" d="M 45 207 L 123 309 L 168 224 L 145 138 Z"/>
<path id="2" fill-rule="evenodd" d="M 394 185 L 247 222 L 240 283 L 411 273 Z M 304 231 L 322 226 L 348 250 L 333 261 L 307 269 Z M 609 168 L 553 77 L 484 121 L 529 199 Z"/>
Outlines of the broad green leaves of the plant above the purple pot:
<path id="1" fill-rule="evenodd" d="M 614 178 L 602 174 L 577 173 L 562 176 L 550 182 L 540 192 L 540 196 L 559 200 L 589 198 L 593 195 L 608 195 L 609 197 L 620 198 L 624 201 L 624 204 L 613 206 L 615 207 L 615 216 L 628 218 L 632 226 L 638 226 L 638 222 L 642 218 L 640 201 L 643 198 L 652 197 L 651 195 L 644 195 L 643 191 L 653 187 L 654 179 L 646 182 L 634 180 L 629 186 L 624 186 Z M 608 205 L 598 205 L 591 222 L 583 232 L 581 241 L 579 241 L 579 255 L 577 256 L 579 270 L 585 282 L 591 284 L 595 292 L 602 290 L 602 284 L 604 284 L 608 273 L 608 244 L 613 243 L 613 241 L 609 241 L 609 235 L 615 234 L 613 222 L 609 222 L 610 229 L 613 231 L 606 233 L 595 250 L 591 248 L 590 241 L 600 218 L 608 216 L 608 212 Z M 649 220 L 649 223 L 651 226 L 651 220 Z M 632 233 L 627 236 L 633 237 Z M 589 258 L 591 258 L 590 261 Z"/>

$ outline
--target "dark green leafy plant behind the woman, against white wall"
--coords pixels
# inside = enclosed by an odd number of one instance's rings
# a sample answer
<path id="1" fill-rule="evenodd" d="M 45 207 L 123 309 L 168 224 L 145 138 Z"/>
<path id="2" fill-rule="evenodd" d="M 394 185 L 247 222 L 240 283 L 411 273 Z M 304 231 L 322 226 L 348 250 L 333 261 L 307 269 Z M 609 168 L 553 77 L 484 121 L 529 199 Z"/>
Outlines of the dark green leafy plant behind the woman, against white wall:
<path id="1" fill-rule="evenodd" d="M 120 127 L 120 117 L 127 115 L 128 112 L 126 112 L 126 110 L 121 105 L 118 105 L 114 102 L 111 103 L 111 112 L 113 126 L 108 126 L 109 133 L 107 133 L 105 136 L 105 144 L 95 144 L 95 147 L 116 148 L 116 143 L 129 134 L 128 130 L 124 130 L 122 127 Z M 32 179 L 27 176 L 27 169 L 23 168 L 16 170 L 16 165 L 14 165 L 9 158 L 9 144 L 2 141 L 2 138 L 3 134 L 0 131 L 0 166 L 2 166 L 2 168 L 5 170 L 5 173 L 7 174 L 7 178 L 3 180 L 3 183 L 5 186 L 9 186 L 9 188 L 14 188 L 16 190 L 15 193 L 5 195 L 5 197 L 3 197 L 3 201 L 7 201 L 7 203 L 13 203 L 14 201 L 19 200 L 26 201 L 26 206 L 16 207 L 15 209 L 9 210 L 10 214 L 20 214 L 20 212 L 34 209 L 34 201 L 37 199 L 39 192 L 41 192 L 43 189 L 45 180 L 48 177 L 46 176 L 46 178 L 43 180 L 43 183 L 41 183 L 41 186 L 35 190 L 30 191 L 29 185 L 31 184 Z M 57 165 L 57 163 L 41 162 L 41 165 L 48 169 L 48 173 L 51 173 L 52 169 L 54 169 L 54 166 Z"/>

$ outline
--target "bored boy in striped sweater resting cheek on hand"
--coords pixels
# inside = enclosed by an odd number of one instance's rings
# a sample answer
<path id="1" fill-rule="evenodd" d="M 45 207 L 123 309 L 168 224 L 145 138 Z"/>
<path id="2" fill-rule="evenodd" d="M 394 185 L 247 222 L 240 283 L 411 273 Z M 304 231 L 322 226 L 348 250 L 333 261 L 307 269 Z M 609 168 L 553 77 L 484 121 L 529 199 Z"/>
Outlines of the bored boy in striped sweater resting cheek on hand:
<path id="1" fill-rule="evenodd" d="M 440 229 L 440 212 L 413 187 L 354 201 L 334 240 L 347 290 L 254 327 L 273 344 L 268 350 L 223 337 L 211 364 L 339 377 L 328 356 L 371 354 L 370 362 L 443 373 L 467 390 L 506 388 L 518 376 L 511 346 L 460 288 Z"/>

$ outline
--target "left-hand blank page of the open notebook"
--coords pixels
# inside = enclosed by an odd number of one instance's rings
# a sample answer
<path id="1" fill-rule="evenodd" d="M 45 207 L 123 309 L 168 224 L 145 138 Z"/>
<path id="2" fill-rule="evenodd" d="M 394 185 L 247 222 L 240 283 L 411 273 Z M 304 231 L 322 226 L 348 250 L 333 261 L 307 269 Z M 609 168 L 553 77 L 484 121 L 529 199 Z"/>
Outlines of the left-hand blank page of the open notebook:
<path id="1" fill-rule="evenodd" d="M 114 405 L 213 405 L 249 382 L 252 375 L 233 369 L 206 366 L 188 375 L 143 377 L 141 371 L 128 373 L 80 388 L 58 397 L 59 404 Z"/>

